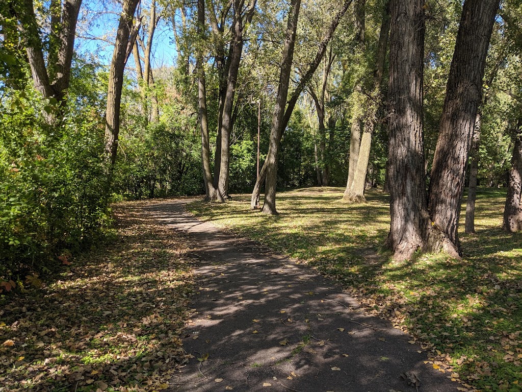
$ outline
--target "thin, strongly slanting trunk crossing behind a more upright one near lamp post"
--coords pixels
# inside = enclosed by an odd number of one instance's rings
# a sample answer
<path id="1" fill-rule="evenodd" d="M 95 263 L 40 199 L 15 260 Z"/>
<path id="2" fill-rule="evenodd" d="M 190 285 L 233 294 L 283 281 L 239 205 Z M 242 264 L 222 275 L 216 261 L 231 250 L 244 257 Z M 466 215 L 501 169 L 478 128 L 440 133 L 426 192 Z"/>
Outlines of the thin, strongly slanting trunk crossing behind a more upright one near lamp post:
<path id="1" fill-rule="evenodd" d="M 330 26 L 326 30 L 323 40 L 321 41 L 321 43 L 319 43 L 319 48 L 317 49 L 317 53 L 315 54 L 314 60 L 310 64 L 310 67 L 308 68 L 308 70 L 304 73 L 304 75 L 300 79 L 298 86 L 295 88 L 290 100 L 288 101 L 287 109 L 284 111 L 284 116 L 280 123 L 280 127 L 279 127 L 280 131 L 279 130 L 277 130 L 277 131 L 270 130 L 270 136 L 272 135 L 272 131 L 274 131 L 278 135 L 277 139 L 274 139 L 275 144 L 279 145 L 279 143 L 281 141 L 281 137 L 283 135 L 283 131 L 287 127 L 288 121 L 290 121 L 290 116 L 292 115 L 292 111 L 295 108 L 295 104 L 297 103 L 297 101 L 301 95 L 301 92 L 303 91 L 304 87 L 310 82 L 310 79 L 312 78 L 315 70 L 317 70 L 317 67 L 321 63 L 323 56 L 326 52 L 328 43 L 330 42 L 330 39 L 333 36 L 335 30 L 337 29 L 337 26 L 339 25 L 341 18 L 345 15 L 346 10 L 348 9 L 348 7 L 350 6 L 351 3 L 352 3 L 352 0 L 345 0 L 345 3 L 343 3 L 343 5 L 342 5 L 341 9 L 338 11 L 337 15 L 332 19 Z M 272 155 L 277 154 L 277 150 L 276 151 L 272 150 L 270 152 L 270 149 L 269 149 L 269 155 L 270 154 L 272 154 Z M 267 155 L 267 159 L 265 159 L 265 163 L 263 164 L 261 173 L 256 180 L 256 183 L 254 186 L 254 191 L 252 192 L 252 198 L 251 198 L 251 204 L 250 204 L 252 209 L 257 209 L 259 206 L 259 189 L 260 189 L 261 183 L 265 180 L 267 182 L 269 181 L 268 177 L 267 177 L 267 167 L 269 165 L 276 164 L 276 157 L 275 156 L 271 157 L 270 161 L 269 161 L 268 160 L 269 155 Z M 276 183 L 276 177 L 277 177 L 277 167 L 272 168 L 272 170 L 270 171 L 270 175 L 273 176 L 273 178 L 270 179 L 270 182 L 274 184 L 274 187 L 271 187 L 270 189 L 268 189 L 265 186 L 265 199 L 267 198 L 267 193 L 270 192 L 269 198 L 271 199 L 271 201 L 273 201 L 274 211 L 275 211 L 275 213 L 277 213 L 277 211 L 275 209 L 275 200 L 276 200 L 275 183 Z"/>

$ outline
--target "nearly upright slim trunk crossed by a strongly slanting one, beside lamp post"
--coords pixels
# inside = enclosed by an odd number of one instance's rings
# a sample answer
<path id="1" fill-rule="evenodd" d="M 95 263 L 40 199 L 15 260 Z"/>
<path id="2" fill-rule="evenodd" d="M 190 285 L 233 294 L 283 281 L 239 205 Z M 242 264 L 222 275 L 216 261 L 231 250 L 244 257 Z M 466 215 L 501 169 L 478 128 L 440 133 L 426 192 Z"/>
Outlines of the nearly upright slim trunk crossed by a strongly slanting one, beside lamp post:
<path id="1" fill-rule="evenodd" d="M 277 214 L 276 210 L 276 182 L 277 182 L 277 149 L 282 136 L 282 122 L 284 107 L 287 103 L 288 85 L 292 71 L 293 53 L 295 48 L 295 33 L 301 9 L 301 0 L 290 1 L 288 13 L 287 31 L 284 39 L 283 55 L 281 60 L 281 71 L 279 74 L 279 87 L 277 89 L 276 106 L 272 114 L 272 126 L 270 128 L 270 144 L 265 159 L 266 182 L 265 202 L 262 212 L 269 215 Z M 257 181 L 256 181 L 257 182 Z"/>

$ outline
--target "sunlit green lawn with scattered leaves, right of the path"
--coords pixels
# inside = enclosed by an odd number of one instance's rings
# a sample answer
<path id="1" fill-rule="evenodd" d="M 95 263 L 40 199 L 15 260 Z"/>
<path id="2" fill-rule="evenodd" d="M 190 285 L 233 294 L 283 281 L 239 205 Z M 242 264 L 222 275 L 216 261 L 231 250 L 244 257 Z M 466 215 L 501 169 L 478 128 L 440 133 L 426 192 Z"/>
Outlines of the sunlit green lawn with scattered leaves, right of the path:
<path id="1" fill-rule="evenodd" d="M 522 391 L 522 235 L 500 228 L 505 191 L 479 190 L 477 234 L 460 234 L 462 261 L 390 260 L 380 251 L 387 197 L 370 190 L 367 203 L 352 205 L 341 197 L 340 188 L 279 193 L 278 216 L 250 211 L 250 195 L 191 210 L 336 279 L 370 313 L 414 336 L 427 365 L 461 381 L 461 390 Z"/>

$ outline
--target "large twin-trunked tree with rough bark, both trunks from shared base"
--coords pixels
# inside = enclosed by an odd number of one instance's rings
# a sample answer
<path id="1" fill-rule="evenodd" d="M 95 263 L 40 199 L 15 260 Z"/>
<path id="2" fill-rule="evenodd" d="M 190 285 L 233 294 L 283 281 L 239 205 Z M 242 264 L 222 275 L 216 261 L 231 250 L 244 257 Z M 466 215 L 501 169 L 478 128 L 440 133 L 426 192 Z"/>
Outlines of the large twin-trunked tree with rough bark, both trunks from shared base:
<path id="1" fill-rule="evenodd" d="M 409 258 L 419 250 L 443 250 L 454 257 L 462 254 L 457 235 L 460 200 L 498 8 L 499 0 L 464 3 L 426 198 L 423 1 L 392 1 L 388 156 L 392 221 L 387 246 L 397 259 Z"/>

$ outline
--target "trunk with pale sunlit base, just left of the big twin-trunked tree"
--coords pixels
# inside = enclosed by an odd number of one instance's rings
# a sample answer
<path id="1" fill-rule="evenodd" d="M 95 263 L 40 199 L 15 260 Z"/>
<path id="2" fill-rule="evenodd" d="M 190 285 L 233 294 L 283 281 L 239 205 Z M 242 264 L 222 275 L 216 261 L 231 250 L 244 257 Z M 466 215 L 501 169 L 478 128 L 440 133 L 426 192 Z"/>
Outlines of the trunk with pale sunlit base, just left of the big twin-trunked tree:
<path id="1" fill-rule="evenodd" d="M 362 135 L 359 152 L 357 154 L 357 166 L 352 169 L 350 182 L 350 171 L 348 172 L 348 182 L 350 185 L 345 190 L 343 200 L 348 202 L 360 203 L 366 201 L 364 198 L 364 189 L 366 184 L 366 174 L 368 171 L 368 163 L 370 162 L 370 150 L 372 146 L 372 136 L 377 121 L 377 111 L 381 106 L 382 92 L 381 84 L 384 74 L 384 65 L 386 62 L 386 48 L 388 47 L 388 37 L 390 28 L 389 3 L 383 11 L 383 19 L 381 23 L 381 31 L 379 33 L 379 42 L 377 45 L 377 53 L 375 58 L 375 71 L 372 98 L 366 99 L 367 109 L 365 111 L 364 132 Z M 360 125 L 359 125 L 360 126 Z M 353 130 L 353 126 L 352 126 Z M 351 149 L 351 144 L 350 144 Z M 350 157 L 350 165 L 351 157 Z M 350 169 L 350 168 L 349 168 Z"/>

